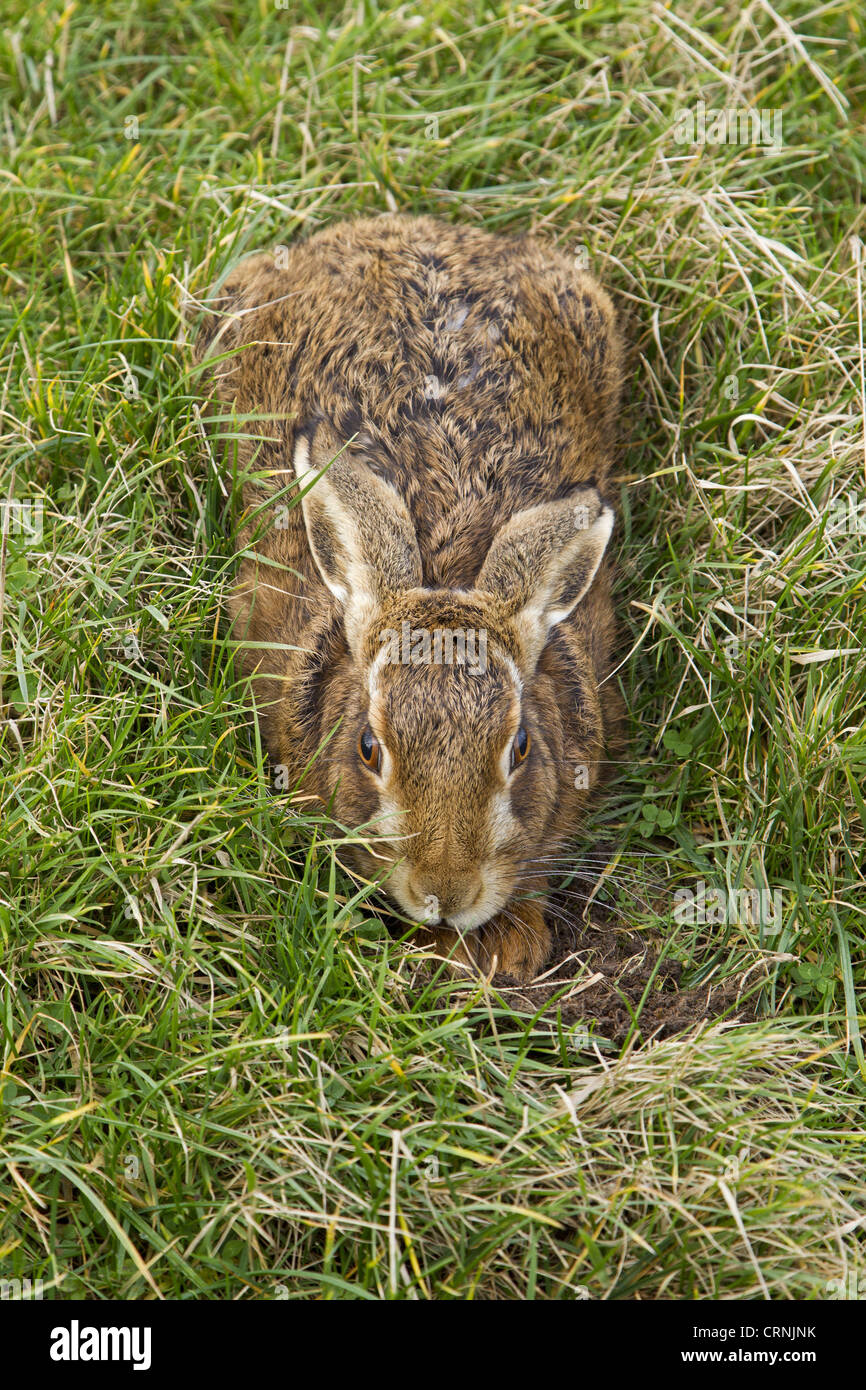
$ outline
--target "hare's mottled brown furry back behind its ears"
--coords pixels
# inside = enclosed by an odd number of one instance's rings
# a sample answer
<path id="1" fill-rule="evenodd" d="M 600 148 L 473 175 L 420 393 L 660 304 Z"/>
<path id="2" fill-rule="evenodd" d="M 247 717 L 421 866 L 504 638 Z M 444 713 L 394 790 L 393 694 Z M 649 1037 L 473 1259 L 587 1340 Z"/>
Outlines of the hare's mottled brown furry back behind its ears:
<path id="1" fill-rule="evenodd" d="M 222 350 L 250 345 L 225 378 L 236 404 L 361 434 L 407 500 L 431 582 L 470 582 L 514 510 L 603 485 L 621 349 L 607 296 L 570 256 L 378 217 L 243 263 L 220 307 Z"/>

